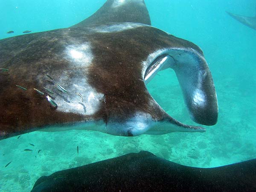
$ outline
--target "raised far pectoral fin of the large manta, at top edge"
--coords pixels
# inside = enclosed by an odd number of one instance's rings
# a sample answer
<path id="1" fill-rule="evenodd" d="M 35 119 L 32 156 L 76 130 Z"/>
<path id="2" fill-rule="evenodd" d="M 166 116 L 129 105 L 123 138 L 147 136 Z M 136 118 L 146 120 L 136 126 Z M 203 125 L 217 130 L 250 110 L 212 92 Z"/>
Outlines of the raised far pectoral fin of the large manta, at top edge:
<path id="1" fill-rule="evenodd" d="M 92 16 L 72 27 L 87 27 L 115 22 L 143 23 L 151 25 L 144 0 L 107 0 Z"/>

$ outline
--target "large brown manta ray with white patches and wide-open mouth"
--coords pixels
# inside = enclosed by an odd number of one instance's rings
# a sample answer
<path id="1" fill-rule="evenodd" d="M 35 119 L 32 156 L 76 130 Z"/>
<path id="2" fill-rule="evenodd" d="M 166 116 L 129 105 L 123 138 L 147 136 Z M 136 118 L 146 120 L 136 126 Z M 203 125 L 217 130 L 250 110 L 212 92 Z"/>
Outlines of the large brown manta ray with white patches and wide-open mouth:
<path id="1" fill-rule="evenodd" d="M 169 67 L 192 119 L 214 125 L 217 97 L 202 50 L 152 27 L 143 0 L 107 0 L 69 28 L 0 40 L 0 140 L 37 130 L 204 132 L 148 93 L 146 83 Z"/>

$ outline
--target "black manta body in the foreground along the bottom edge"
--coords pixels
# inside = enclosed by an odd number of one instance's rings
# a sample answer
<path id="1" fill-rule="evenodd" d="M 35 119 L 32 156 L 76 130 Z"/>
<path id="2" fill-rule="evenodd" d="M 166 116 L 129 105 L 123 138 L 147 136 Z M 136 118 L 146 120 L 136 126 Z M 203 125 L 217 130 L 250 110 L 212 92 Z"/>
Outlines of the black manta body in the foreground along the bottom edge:
<path id="1" fill-rule="evenodd" d="M 256 159 L 196 168 L 141 151 L 40 177 L 32 192 L 256 191 L 255 180 Z"/>

